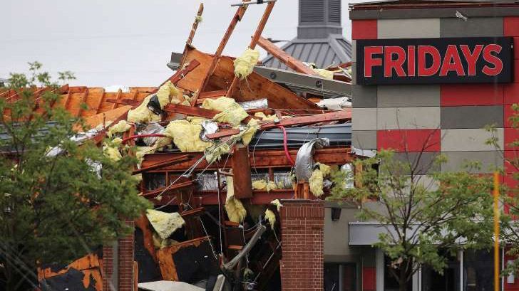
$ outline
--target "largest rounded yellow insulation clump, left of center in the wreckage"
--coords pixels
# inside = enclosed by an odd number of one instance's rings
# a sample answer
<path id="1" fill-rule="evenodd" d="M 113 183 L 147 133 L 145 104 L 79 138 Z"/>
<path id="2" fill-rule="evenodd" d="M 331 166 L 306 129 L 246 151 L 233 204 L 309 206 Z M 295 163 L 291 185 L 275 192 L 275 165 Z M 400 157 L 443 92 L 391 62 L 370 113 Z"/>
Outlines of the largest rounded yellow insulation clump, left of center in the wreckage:
<path id="1" fill-rule="evenodd" d="M 201 131 L 202 126 L 195 124 L 194 120 L 173 120 L 166 127 L 164 134 L 173 139 L 180 152 L 203 152 L 212 143 L 200 139 Z"/>

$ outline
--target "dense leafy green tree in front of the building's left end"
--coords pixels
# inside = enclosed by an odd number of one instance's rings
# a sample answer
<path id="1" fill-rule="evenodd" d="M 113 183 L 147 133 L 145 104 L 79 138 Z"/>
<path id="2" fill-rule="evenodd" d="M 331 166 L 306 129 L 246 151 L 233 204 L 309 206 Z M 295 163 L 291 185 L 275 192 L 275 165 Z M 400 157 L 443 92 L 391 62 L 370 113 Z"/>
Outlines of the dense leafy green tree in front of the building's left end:
<path id="1" fill-rule="evenodd" d="M 135 160 L 113 162 L 93 142 L 71 140 L 81 120 L 53 106 L 58 85 L 41 73 L 40 63 L 30 63 L 30 70 L 29 76 L 11 74 L 9 88 L 18 96 L 0 100 L 0 289 L 5 290 L 34 287 L 40 263 L 68 263 L 125 236 L 133 231 L 125 219 L 150 206 L 138 196 L 131 175 Z M 59 80 L 71 77 L 61 73 Z M 37 88 L 47 90 L 35 95 Z"/>

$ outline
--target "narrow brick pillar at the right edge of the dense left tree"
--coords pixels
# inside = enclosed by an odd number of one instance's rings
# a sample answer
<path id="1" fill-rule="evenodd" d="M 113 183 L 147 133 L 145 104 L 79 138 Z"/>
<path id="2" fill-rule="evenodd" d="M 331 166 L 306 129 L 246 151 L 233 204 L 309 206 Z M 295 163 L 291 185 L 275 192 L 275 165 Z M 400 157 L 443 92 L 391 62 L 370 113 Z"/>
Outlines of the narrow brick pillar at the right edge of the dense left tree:
<path id="1" fill-rule="evenodd" d="M 135 227 L 133 221 L 128 221 L 127 223 L 132 228 Z M 133 233 L 130 236 L 119 239 L 118 258 L 118 291 L 137 291 L 133 290 Z"/>

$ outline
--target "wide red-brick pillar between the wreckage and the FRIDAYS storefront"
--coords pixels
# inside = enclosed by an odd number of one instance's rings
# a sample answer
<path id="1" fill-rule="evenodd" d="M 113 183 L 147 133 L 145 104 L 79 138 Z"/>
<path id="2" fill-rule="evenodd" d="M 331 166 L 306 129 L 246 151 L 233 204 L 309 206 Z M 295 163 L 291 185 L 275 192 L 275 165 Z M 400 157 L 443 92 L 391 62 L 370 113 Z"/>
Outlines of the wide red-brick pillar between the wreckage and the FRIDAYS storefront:
<path id="1" fill-rule="evenodd" d="M 322 291 L 324 201 L 292 199 L 282 204 L 282 291 Z"/>

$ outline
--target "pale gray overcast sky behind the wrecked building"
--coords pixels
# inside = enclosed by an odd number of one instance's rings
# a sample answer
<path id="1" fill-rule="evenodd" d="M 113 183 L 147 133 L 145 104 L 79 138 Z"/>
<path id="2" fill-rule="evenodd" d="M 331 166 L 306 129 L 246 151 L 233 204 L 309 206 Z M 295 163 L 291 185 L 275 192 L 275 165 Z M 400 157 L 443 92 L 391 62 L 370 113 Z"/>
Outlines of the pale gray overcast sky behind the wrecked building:
<path id="1" fill-rule="evenodd" d="M 297 1 L 278 0 L 263 36 L 296 36 Z M 45 70 L 71 70 L 71 85 L 155 86 L 171 75 L 172 51 L 182 52 L 200 1 L 191 0 L 3 0 L 0 17 L 0 78 L 23 73 L 38 60 Z M 205 0 L 193 44 L 216 50 L 240 0 Z M 260 21 L 264 5 L 247 9 L 225 53 L 240 55 Z M 348 1 L 342 1 L 344 36 L 351 37 Z M 264 55 L 264 52 L 262 52 Z"/>

